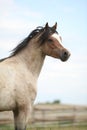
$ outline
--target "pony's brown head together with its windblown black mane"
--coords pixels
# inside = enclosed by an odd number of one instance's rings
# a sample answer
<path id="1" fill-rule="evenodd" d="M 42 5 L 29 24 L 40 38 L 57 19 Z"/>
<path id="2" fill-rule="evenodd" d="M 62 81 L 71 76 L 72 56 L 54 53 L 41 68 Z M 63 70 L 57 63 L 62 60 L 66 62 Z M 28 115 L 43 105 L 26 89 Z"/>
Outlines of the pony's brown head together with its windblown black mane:
<path id="1" fill-rule="evenodd" d="M 23 48 L 30 44 L 31 40 L 33 40 L 31 44 L 38 44 L 44 55 L 66 61 L 69 58 L 70 53 L 62 46 L 62 38 L 56 29 L 57 23 L 55 23 L 52 27 L 49 27 L 48 23 L 46 23 L 45 27 L 37 27 L 29 34 L 28 37 L 26 37 L 16 48 L 13 49 L 12 56 L 19 53 Z"/>

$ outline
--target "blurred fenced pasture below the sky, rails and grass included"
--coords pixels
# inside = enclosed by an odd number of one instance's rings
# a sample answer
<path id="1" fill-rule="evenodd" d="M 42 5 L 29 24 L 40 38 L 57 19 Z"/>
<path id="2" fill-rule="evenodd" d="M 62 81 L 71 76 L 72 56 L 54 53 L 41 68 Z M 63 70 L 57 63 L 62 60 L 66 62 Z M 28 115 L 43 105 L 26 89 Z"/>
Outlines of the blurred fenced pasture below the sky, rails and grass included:
<path id="1" fill-rule="evenodd" d="M 37 104 L 29 124 L 27 130 L 87 130 L 87 106 Z M 12 112 L 1 112 L 0 130 L 13 129 Z"/>

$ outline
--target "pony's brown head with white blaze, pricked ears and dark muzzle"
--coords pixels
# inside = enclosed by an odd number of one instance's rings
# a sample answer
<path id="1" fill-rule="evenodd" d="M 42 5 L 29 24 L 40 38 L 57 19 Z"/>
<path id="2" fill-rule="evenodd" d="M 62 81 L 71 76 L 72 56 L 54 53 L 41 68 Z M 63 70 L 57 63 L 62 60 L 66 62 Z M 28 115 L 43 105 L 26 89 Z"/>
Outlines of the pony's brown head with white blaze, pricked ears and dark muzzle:
<path id="1" fill-rule="evenodd" d="M 41 49 L 48 56 L 66 61 L 70 56 L 70 52 L 62 46 L 62 38 L 56 29 L 57 23 L 52 27 L 49 27 L 48 23 L 46 23 L 39 37 Z"/>

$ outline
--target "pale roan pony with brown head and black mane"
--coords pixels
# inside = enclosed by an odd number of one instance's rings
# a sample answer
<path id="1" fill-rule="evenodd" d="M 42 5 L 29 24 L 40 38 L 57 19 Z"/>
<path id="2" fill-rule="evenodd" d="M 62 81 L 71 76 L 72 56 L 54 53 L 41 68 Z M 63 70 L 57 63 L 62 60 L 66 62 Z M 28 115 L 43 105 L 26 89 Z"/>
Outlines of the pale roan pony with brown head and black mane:
<path id="1" fill-rule="evenodd" d="M 39 26 L 0 60 L 0 111 L 13 111 L 15 130 L 26 130 L 37 95 L 37 80 L 46 55 L 66 61 L 57 23 Z"/>

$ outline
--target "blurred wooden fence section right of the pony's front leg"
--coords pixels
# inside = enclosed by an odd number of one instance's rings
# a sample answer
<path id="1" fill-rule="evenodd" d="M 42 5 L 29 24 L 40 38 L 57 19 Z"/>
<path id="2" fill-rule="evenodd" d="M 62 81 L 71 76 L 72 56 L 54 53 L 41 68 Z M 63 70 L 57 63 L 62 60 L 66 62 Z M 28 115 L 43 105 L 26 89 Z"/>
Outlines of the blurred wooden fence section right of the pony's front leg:
<path id="1" fill-rule="evenodd" d="M 87 107 L 37 105 L 32 112 L 33 124 L 87 125 Z"/>

